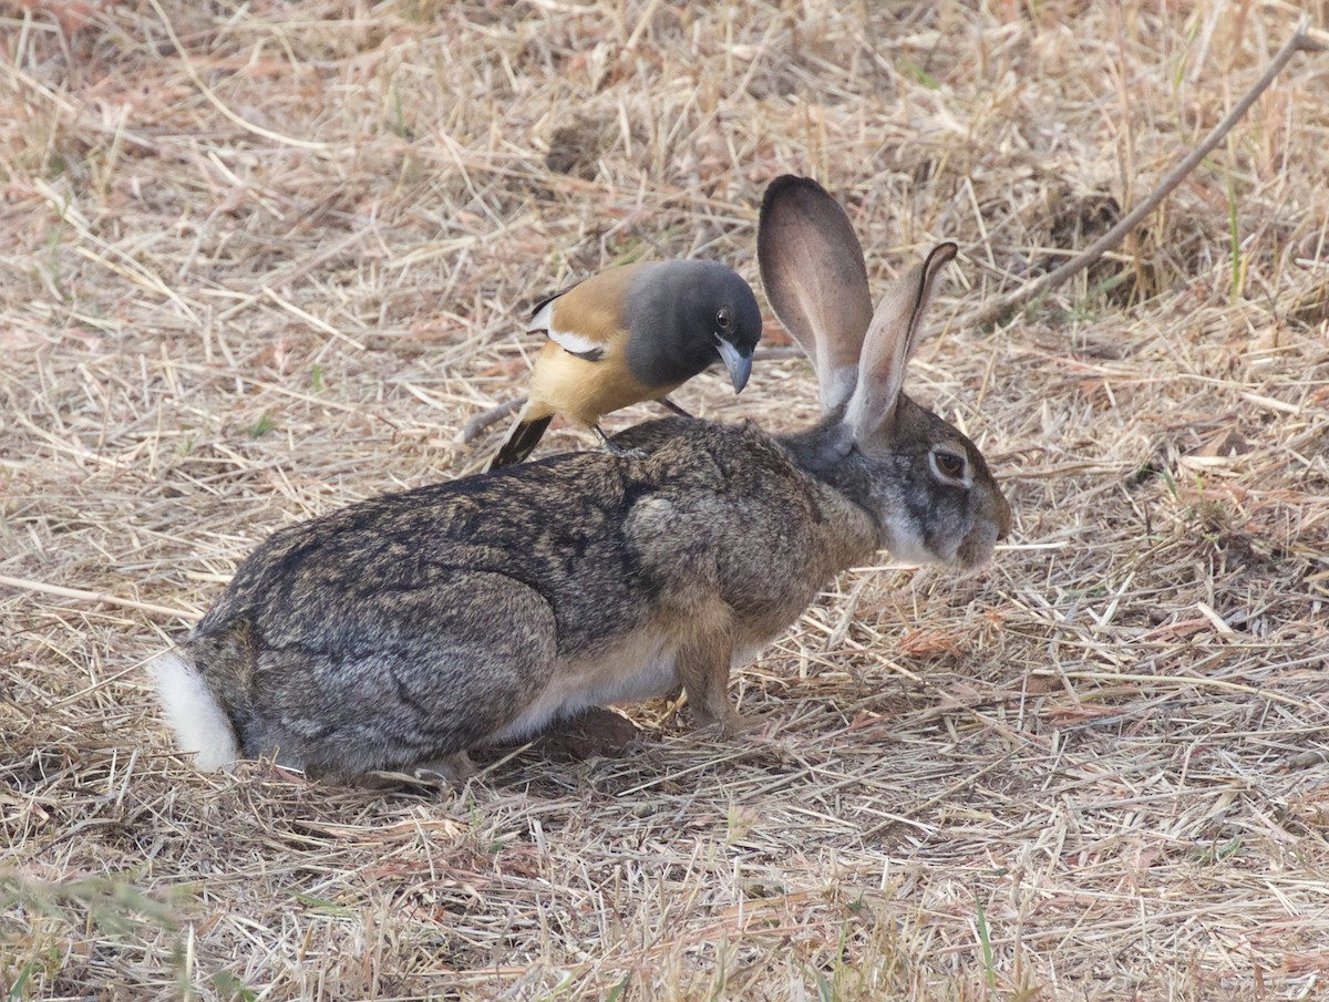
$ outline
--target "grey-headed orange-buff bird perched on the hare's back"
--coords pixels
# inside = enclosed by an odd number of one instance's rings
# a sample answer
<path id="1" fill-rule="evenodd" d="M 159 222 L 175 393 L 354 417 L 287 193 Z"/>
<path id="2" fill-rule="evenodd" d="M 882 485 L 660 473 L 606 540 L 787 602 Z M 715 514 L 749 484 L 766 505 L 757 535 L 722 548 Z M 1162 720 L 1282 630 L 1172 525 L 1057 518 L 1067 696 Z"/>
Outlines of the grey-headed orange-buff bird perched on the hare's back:
<path id="1" fill-rule="evenodd" d="M 526 404 L 488 469 L 530 456 L 554 415 L 590 428 L 611 453 L 599 420 L 659 400 L 715 361 L 734 392 L 747 385 L 762 311 L 751 286 L 718 260 L 638 262 L 601 271 L 536 304 L 528 332 L 544 331 Z"/>

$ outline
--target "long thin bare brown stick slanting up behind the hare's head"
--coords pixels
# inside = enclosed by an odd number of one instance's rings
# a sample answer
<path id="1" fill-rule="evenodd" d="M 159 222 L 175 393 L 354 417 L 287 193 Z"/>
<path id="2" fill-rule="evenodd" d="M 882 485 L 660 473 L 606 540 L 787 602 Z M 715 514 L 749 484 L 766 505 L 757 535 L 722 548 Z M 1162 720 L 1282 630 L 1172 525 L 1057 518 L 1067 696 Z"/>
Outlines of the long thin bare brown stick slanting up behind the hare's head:
<path id="1" fill-rule="evenodd" d="M 1185 175 L 1195 170 L 1200 161 L 1213 151 L 1215 146 L 1223 142 L 1223 137 L 1228 134 L 1232 126 L 1236 125 L 1248 110 L 1251 110 L 1251 105 L 1253 105 L 1260 94 L 1268 89 L 1269 84 L 1272 84 L 1275 77 L 1282 72 L 1282 68 L 1288 65 L 1288 61 L 1296 53 L 1322 52 L 1324 49 L 1325 45 L 1310 36 L 1309 21 L 1305 16 L 1302 16 L 1301 23 L 1297 25 L 1297 31 L 1293 32 L 1286 44 L 1278 49 L 1278 53 L 1273 57 L 1273 62 L 1269 64 L 1264 76 L 1261 76 L 1236 104 L 1236 106 L 1228 112 L 1227 116 L 1224 116 L 1223 121 L 1213 126 L 1209 134 L 1204 138 L 1204 142 L 1191 150 L 1189 155 L 1177 163 L 1168 173 L 1168 175 L 1159 182 L 1158 187 L 1150 193 L 1148 198 L 1136 205 L 1116 223 L 1116 226 L 1104 233 L 1092 245 L 1067 260 L 1059 268 L 1029 282 L 1010 295 L 989 303 L 977 314 L 970 316 L 969 322 L 981 327 L 983 324 L 993 323 L 994 320 L 999 320 L 1010 314 L 1010 311 L 1015 307 L 1022 306 L 1030 299 L 1034 299 L 1045 292 L 1050 292 L 1063 284 L 1067 279 L 1090 267 L 1094 262 L 1107 254 L 1107 251 L 1116 247 L 1123 239 L 1126 239 L 1126 234 L 1139 226 L 1140 221 L 1144 219 L 1146 215 L 1158 209 L 1159 203 L 1172 194 L 1172 190 L 1180 185 L 1183 179 L 1185 179 Z"/>

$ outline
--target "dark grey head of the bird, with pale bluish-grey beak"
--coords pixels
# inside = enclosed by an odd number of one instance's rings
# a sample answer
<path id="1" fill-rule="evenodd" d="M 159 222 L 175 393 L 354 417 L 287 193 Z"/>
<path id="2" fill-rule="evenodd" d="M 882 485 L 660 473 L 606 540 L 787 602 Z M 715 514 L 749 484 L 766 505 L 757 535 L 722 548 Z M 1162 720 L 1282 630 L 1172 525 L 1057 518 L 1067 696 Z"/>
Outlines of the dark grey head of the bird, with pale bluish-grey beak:
<path id="1" fill-rule="evenodd" d="M 718 260 L 647 264 L 627 291 L 627 365 L 642 383 L 682 383 L 715 361 L 735 392 L 747 383 L 762 311 L 732 268 Z"/>

